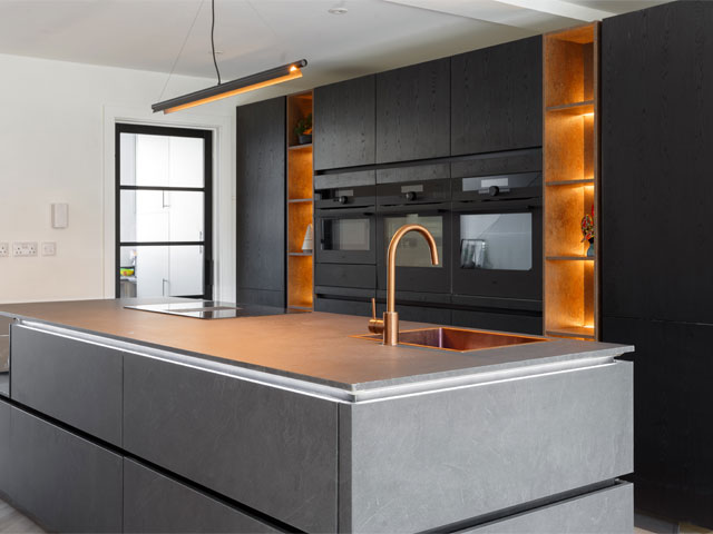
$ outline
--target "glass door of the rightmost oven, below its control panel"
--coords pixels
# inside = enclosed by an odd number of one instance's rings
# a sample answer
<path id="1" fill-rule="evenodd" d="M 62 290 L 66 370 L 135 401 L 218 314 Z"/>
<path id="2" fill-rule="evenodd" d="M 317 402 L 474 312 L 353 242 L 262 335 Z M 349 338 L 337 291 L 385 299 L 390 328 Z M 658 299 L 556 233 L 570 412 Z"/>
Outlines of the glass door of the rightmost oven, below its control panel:
<path id="1" fill-rule="evenodd" d="M 453 212 L 453 293 L 539 300 L 541 207 L 502 204 Z"/>

